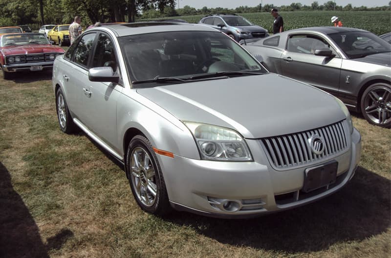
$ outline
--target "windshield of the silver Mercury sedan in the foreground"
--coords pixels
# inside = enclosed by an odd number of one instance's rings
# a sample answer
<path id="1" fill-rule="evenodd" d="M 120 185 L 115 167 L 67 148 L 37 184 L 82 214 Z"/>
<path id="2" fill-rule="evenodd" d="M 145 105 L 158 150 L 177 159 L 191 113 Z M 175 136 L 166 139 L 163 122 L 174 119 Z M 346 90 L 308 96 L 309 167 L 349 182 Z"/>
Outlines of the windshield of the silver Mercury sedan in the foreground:
<path id="1" fill-rule="evenodd" d="M 248 76 L 267 71 L 235 41 L 220 32 L 179 31 L 131 35 L 119 39 L 133 84 L 162 79 Z M 179 80 L 178 80 L 179 79 Z M 135 83 L 136 82 L 136 83 Z M 153 84 L 153 83 L 152 83 Z"/>

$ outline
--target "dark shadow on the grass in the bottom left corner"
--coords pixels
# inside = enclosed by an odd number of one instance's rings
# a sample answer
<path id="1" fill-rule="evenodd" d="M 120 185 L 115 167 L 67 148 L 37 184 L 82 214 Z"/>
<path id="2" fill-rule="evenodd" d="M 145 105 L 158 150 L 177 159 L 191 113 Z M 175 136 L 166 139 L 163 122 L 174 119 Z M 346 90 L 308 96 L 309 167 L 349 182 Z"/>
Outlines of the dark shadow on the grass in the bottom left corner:
<path id="1" fill-rule="evenodd" d="M 0 257 L 48 258 L 39 229 L 0 162 Z"/>

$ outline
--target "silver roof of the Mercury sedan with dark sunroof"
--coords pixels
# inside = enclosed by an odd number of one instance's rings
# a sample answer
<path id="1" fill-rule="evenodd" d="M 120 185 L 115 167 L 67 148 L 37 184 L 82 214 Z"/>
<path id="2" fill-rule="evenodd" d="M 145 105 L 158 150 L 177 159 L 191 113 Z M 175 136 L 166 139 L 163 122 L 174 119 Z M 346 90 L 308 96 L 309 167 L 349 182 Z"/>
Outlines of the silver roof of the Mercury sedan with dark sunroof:
<path id="1" fill-rule="evenodd" d="M 179 23 L 179 22 L 134 22 L 124 24 L 109 24 L 106 26 L 100 26 L 88 29 L 91 30 L 106 30 L 109 29 L 114 32 L 117 37 L 138 35 L 157 32 L 170 32 L 170 31 L 218 31 L 214 28 L 195 24 L 195 23 Z"/>

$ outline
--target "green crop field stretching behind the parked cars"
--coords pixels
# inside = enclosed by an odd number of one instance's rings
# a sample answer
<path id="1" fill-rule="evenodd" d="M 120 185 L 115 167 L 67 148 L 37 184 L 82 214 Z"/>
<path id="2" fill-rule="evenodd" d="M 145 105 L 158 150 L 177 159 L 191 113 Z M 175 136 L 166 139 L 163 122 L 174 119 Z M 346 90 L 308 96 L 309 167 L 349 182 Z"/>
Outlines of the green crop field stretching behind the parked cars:
<path id="1" fill-rule="evenodd" d="M 260 25 L 271 32 L 274 18 L 270 13 L 241 13 L 247 20 Z M 352 27 L 368 30 L 376 35 L 391 31 L 391 11 L 298 11 L 280 12 L 284 20 L 285 30 L 314 27 L 332 26 L 331 17 L 338 16 L 344 27 Z M 191 23 L 197 23 L 204 15 L 172 17 L 183 19 Z"/>

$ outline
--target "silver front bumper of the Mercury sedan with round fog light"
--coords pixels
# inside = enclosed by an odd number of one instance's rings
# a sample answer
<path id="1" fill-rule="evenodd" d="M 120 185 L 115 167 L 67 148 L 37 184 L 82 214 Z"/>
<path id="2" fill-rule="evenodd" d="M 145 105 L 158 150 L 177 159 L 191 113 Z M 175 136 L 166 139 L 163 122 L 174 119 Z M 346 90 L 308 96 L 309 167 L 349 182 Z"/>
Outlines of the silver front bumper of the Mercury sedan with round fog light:
<path id="1" fill-rule="evenodd" d="M 254 162 L 217 162 L 159 156 L 171 205 L 209 217 L 251 218 L 295 208 L 341 189 L 354 175 L 361 153 L 361 136 L 354 129 L 347 151 L 338 162 L 337 181 L 304 194 L 308 166 L 278 171 L 272 168 L 257 140 L 247 140 Z M 233 208 L 230 205 L 233 204 Z"/>

